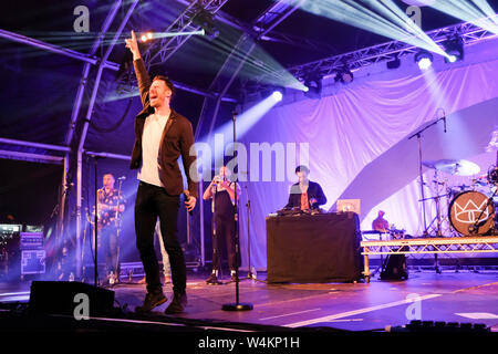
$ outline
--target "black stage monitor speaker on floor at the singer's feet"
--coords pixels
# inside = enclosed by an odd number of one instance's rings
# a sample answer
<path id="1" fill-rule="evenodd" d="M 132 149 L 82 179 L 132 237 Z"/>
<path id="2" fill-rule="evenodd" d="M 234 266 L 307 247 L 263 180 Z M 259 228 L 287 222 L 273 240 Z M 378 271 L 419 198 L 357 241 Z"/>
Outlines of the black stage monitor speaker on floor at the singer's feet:
<path id="1" fill-rule="evenodd" d="M 75 281 L 33 281 L 29 312 L 73 316 L 83 301 L 89 316 L 105 316 L 113 311 L 114 291 Z"/>

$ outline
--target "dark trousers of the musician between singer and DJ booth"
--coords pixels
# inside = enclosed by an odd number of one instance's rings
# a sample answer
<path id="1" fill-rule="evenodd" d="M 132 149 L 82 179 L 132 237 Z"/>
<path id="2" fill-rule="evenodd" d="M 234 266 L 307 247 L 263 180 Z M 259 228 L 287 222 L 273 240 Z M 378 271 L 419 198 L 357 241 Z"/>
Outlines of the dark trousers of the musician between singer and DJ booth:
<path id="1" fill-rule="evenodd" d="M 228 267 L 230 270 L 236 269 L 236 252 L 235 252 L 235 223 L 234 212 L 218 216 L 215 212 L 212 218 L 215 222 L 215 233 L 212 235 L 212 269 L 221 269 L 221 242 L 225 241 L 227 249 Z"/>

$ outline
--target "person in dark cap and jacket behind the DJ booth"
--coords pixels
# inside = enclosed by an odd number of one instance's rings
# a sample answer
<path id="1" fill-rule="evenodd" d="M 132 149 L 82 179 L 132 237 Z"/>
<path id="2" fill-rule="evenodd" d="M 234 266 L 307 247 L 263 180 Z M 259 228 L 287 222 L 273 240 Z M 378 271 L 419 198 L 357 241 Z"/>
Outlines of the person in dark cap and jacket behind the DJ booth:
<path id="1" fill-rule="evenodd" d="M 309 174 L 310 169 L 307 166 L 300 165 L 295 167 L 295 175 L 299 181 L 290 188 L 286 209 L 312 210 L 326 204 L 326 197 L 322 187 L 318 183 L 311 181 L 308 178 Z"/>

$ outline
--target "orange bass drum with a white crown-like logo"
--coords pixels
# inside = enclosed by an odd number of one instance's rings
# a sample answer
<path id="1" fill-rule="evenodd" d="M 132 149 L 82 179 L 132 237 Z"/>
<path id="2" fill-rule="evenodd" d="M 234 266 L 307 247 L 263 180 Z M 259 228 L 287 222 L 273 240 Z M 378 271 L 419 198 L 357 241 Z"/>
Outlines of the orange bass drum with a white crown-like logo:
<path id="1" fill-rule="evenodd" d="M 457 195 L 449 204 L 449 222 L 461 235 L 488 235 L 495 227 L 495 205 L 476 190 Z M 476 223 L 476 221 L 478 221 Z M 471 229 L 476 230 L 471 232 Z"/>

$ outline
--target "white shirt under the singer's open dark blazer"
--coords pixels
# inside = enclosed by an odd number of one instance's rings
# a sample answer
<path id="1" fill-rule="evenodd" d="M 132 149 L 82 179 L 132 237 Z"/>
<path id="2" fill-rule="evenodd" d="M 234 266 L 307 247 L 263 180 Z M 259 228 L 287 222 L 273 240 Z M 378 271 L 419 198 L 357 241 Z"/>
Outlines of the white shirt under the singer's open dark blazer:
<path id="1" fill-rule="evenodd" d="M 142 134 L 142 165 L 137 178 L 147 184 L 164 187 L 159 178 L 160 138 L 169 116 L 151 114 L 145 118 L 144 132 Z"/>

